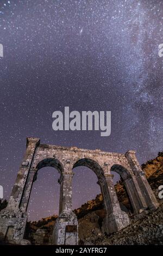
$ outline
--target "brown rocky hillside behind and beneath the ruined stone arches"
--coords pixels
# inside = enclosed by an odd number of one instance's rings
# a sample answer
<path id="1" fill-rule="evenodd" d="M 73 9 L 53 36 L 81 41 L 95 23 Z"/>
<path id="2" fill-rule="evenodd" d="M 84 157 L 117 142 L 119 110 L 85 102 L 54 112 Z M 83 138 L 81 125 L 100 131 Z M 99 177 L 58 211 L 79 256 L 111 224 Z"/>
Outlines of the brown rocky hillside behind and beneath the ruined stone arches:
<path id="1" fill-rule="evenodd" d="M 158 186 L 163 184 L 163 153 L 158 157 L 142 164 L 156 197 L 158 198 Z M 132 209 L 122 181 L 115 185 L 121 209 L 128 212 L 131 217 Z M 163 241 L 163 204 L 151 214 L 139 221 L 131 218 L 131 224 L 110 236 L 103 235 L 101 225 L 105 216 L 103 198 L 101 194 L 93 200 L 89 200 L 80 208 L 74 210 L 78 216 L 79 243 L 81 245 L 114 245 L 114 244 L 162 244 Z M 57 216 L 43 218 L 39 222 L 28 223 L 28 236 L 33 244 L 51 244 L 51 234 Z"/>

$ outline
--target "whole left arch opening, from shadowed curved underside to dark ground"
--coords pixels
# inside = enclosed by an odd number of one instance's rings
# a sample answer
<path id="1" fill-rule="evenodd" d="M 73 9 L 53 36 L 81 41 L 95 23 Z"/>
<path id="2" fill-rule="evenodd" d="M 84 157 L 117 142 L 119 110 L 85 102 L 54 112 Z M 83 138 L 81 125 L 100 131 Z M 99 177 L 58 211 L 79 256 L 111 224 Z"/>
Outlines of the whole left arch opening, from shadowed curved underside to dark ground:
<path id="1" fill-rule="evenodd" d="M 27 203 L 28 223 L 25 235 L 27 239 L 30 236 L 34 244 L 52 243 L 53 228 L 59 215 L 60 184 L 58 180 L 62 172 L 61 163 L 52 158 L 43 159 L 34 168 Z M 22 203 L 26 202 L 26 191 L 23 198 Z M 49 220 L 52 224 L 45 229 L 44 226 Z"/>

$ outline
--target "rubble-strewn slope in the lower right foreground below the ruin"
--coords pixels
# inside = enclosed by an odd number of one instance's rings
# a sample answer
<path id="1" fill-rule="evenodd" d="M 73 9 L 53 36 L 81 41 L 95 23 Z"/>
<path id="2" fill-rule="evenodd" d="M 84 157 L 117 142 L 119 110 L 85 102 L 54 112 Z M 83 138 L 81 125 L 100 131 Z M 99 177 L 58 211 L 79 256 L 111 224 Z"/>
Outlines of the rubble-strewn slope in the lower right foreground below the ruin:
<path id="1" fill-rule="evenodd" d="M 103 235 L 96 219 L 96 212 L 79 220 L 80 244 L 83 245 L 163 245 L 163 204 L 141 218 L 131 220 L 131 224 L 110 236 Z M 95 219 L 92 221 L 92 217 Z M 89 227 L 86 232 L 84 226 Z M 85 232 L 84 232 L 85 230 Z"/>

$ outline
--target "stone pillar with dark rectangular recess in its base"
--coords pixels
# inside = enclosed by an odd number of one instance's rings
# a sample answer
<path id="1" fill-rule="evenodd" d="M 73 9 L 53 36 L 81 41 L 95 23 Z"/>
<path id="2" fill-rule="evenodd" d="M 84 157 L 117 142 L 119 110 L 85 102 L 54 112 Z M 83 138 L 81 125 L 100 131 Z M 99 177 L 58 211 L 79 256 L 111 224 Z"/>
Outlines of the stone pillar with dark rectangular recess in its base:
<path id="1" fill-rule="evenodd" d="M 54 225 L 54 245 L 78 245 L 78 221 L 72 211 L 72 172 L 61 175 L 59 217 Z"/>

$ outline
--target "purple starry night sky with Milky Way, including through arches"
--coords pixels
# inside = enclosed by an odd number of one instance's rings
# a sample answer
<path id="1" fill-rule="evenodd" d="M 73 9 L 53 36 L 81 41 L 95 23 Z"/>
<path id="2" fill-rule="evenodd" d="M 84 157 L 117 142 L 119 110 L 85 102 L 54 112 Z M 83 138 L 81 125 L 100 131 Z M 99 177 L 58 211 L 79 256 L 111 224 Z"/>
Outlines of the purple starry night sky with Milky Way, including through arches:
<path id="1" fill-rule="evenodd" d="M 43 144 L 125 153 L 142 164 L 163 143 L 163 2 L 161 0 L 0 1 L 1 166 L 9 197 L 26 137 Z M 53 131 L 52 113 L 111 111 L 111 135 Z M 86 167 L 74 169 L 73 208 L 99 193 Z M 39 170 L 29 218 L 57 213 L 58 172 Z M 115 177 L 115 182 L 117 176 Z"/>

